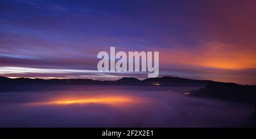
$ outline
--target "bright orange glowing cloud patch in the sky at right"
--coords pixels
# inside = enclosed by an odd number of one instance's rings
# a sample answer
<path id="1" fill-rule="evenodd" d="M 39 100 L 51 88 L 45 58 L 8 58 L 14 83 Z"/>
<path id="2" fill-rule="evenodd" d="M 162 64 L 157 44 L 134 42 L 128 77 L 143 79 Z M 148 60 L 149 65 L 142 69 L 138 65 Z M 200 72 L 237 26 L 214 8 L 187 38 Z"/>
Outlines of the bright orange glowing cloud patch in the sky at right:
<path id="1" fill-rule="evenodd" d="M 256 49 L 219 42 L 202 44 L 197 49 L 161 50 L 163 65 L 184 64 L 199 68 L 243 70 L 256 68 Z"/>

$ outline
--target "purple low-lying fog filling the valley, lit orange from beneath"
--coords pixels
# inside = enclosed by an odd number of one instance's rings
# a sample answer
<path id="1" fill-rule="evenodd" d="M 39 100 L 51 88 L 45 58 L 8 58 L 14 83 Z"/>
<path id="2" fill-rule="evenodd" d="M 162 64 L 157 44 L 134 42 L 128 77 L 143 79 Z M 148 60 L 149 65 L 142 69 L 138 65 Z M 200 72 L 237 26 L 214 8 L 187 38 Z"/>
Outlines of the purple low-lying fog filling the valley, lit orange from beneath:
<path id="1" fill-rule="evenodd" d="M 1 92 L 0 127 L 244 127 L 254 106 L 187 96 L 198 87 L 69 86 Z"/>

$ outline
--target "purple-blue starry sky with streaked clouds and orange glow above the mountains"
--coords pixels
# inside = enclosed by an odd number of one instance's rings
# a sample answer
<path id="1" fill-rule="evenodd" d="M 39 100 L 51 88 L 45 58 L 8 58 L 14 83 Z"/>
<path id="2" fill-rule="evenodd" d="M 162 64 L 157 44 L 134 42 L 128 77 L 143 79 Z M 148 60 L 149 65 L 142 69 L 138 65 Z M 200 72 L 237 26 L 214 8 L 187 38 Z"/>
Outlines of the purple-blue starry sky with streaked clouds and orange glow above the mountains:
<path id="1" fill-rule="evenodd" d="M 97 53 L 159 51 L 164 75 L 256 84 L 256 1 L 0 1 L 0 75 L 147 78 L 97 71 Z"/>

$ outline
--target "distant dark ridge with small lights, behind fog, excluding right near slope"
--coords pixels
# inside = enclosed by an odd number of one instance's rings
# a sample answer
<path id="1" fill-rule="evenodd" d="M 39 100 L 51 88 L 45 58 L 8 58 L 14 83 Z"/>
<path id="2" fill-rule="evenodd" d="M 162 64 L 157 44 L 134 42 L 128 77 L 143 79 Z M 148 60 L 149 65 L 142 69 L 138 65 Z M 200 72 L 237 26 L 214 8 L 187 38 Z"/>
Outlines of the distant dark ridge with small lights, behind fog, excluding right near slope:
<path id="1" fill-rule="evenodd" d="M 209 82 L 178 77 L 148 78 L 139 80 L 133 77 L 123 77 L 117 81 L 96 81 L 93 79 L 31 79 L 0 77 L 0 92 L 45 90 L 51 87 L 68 85 L 133 85 L 133 86 L 205 86 Z"/>

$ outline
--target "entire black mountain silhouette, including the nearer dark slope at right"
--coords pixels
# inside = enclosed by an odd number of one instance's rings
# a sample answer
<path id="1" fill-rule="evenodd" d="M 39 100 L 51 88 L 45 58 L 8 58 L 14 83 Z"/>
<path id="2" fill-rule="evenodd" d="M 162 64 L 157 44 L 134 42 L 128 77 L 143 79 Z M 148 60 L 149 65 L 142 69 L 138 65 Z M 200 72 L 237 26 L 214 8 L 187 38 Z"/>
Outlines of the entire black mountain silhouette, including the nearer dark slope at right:
<path id="1" fill-rule="evenodd" d="M 117 81 L 97 81 L 93 79 L 31 79 L 0 77 L 0 92 L 37 91 L 56 89 L 68 85 L 134 85 L 134 86 L 205 86 L 191 91 L 192 96 L 216 98 L 255 104 L 255 85 L 238 85 L 236 83 L 215 82 L 209 80 L 187 79 L 179 77 L 158 77 L 139 80 L 134 77 L 123 77 Z"/>

